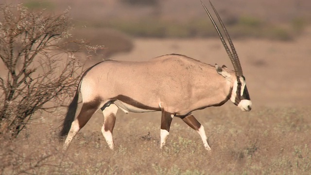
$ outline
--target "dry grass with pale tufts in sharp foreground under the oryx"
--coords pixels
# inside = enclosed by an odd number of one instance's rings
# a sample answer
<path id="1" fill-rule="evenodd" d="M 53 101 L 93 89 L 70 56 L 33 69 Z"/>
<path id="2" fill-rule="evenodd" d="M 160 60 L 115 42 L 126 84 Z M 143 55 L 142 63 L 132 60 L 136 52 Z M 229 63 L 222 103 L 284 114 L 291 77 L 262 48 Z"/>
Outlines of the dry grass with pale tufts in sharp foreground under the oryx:
<path id="1" fill-rule="evenodd" d="M 160 150 L 158 113 L 120 112 L 114 130 L 114 151 L 104 141 L 101 117 L 96 114 L 88 123 L 93 129 L 82 130 L 63 153 L 62 143 L 54 133 L 58 119 L 42 117 L 39 123 L 45 125 L 33 124 L 17 140 L 1 140 L 2 174 L 311 173 L 310 109 L 260 108 L 242 113 L 230 105 L 195 114 L 206 127 L 211 152 L 204 149 L 197 133 L 179 119 L 173 120 L 168 145 Z"/>

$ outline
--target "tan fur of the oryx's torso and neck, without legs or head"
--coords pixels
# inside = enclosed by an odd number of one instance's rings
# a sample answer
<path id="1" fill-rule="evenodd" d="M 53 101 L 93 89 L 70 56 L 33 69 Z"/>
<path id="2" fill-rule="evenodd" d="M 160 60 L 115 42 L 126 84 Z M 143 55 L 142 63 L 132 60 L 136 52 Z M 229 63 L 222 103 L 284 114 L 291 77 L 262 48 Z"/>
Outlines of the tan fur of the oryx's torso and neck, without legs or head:
<path id="1" fill-rule="evenodd" d="M 81 91 L 84 103 L 124 95 L 153 108 L 162 103 L 167 112 L 186 115 L 227 100 L 231 82 L 215 67 L 171 54 L 145 62 L 104 61 L 86 73 Z"/>

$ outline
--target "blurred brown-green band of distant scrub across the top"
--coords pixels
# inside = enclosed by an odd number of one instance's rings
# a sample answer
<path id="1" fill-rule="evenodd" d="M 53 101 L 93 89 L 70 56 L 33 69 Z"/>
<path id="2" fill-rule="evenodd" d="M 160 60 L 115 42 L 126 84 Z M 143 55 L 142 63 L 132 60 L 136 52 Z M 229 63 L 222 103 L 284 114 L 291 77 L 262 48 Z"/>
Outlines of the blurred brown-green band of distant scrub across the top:
<path id="1" fill-rule="evenodd" d="M 311 21 L 310 0 L 212 2 L 234 38 L 292 40 Z M 52 13 L 69 8 L 76 29 L 73 34 L 95 43 L 113 45 L 116 41 L 109 37 L 117 37 L 120 32 L 153 38 L 216 36 L 199 0 L 10 0 L 9 3 L 23 3 L 29 9 Z M 207 0 L 205 3 L 209 7 Z M 126 50 L 125 45 L 119 47 Z"/>

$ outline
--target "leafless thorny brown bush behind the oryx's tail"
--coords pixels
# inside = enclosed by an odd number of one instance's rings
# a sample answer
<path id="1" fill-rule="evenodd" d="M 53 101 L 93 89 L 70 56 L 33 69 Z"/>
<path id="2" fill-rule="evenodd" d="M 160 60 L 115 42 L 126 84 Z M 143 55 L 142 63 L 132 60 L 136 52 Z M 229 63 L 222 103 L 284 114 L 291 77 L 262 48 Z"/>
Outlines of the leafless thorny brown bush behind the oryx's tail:
<path id="1" fill-rule="evenodd" d="M 21 5 L 0 6 L 0 134 L 17 136 L 37 110 L 62 105 L 75 89 L 81 66 L 72 51 L 58 44 L 70 37 L 68 12 L 45 15 Z M 103 48 L 69 42 L 88 51 Z"/>

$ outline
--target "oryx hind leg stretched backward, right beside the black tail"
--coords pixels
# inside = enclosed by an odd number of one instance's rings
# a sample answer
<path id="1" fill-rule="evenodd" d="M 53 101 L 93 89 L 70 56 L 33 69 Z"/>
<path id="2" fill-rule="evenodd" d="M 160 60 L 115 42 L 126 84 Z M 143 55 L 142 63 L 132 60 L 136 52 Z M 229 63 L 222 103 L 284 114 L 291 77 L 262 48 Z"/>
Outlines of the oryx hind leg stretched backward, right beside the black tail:
<path id="1" fill-rule="evenodd" d="M 83 103 L 82 109 L 78 117 L 72 122 L 68 136 L 65 140 L 64 150 L 69 147 L 71 140 L 74 136 L 83 128 L 92 115 L 99 109 L 101 102 L 99 100 L 94 100 L 93 102 Z"/>

